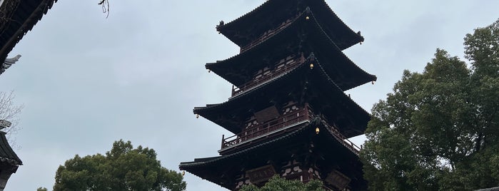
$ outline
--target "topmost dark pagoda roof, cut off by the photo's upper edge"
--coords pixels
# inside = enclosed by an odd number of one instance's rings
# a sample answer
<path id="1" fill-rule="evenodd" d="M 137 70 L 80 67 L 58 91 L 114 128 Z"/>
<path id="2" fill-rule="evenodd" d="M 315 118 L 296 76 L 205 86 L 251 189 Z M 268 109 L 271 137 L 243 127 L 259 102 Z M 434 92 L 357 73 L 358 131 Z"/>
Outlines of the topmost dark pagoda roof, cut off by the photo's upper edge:
<path id="1" fill-rule="evenodd" d="M 241 51 L 251 46 L 253 41 L 266 36 L 277 29 L 276 26 L 286 24 L 309 7 L 314 11 L 324 31 L 341 50 L 364 40 L 360 33 L 352 31 L 329 8 L 324 0 L 273 0 L 266 1 L 258 8 L 240 18 L 217 26 L 217 31 L 241 47 Z"/>

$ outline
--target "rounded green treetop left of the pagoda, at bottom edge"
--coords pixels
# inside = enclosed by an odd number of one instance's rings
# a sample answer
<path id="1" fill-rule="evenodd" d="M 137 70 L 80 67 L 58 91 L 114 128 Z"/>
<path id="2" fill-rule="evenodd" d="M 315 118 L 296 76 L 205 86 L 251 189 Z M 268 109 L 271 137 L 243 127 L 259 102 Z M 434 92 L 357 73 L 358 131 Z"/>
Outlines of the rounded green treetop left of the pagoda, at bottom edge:
<path id="1" fill-rule="evenodd" d="M 161 167 L 153 149 L 119 140 L 106 155 L 76 155 L 56 172 L 57 190 L 185 190 L 179 172 Z"/>

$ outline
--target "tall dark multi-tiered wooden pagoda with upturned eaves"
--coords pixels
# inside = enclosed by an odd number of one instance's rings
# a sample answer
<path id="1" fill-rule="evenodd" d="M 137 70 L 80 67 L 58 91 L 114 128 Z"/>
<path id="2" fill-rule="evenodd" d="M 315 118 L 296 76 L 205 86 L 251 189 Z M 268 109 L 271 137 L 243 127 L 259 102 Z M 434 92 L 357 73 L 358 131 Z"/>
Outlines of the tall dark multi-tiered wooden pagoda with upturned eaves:
<path id="1" fill-rule="evenodd" d="M 206 68 L 233 84 L 226 102 L 194 108 L 234 135 L 219 156 L 181 162 L 181 170 L 238 190 L 273 175 L 321 180 L 326 190 L 366 190 L 360 148 L 369 113 L 344 91 L 376 77 L 343 50 L 362 43 L 324 0 L 268 0 L 216 30 L 241 47 Z"/>

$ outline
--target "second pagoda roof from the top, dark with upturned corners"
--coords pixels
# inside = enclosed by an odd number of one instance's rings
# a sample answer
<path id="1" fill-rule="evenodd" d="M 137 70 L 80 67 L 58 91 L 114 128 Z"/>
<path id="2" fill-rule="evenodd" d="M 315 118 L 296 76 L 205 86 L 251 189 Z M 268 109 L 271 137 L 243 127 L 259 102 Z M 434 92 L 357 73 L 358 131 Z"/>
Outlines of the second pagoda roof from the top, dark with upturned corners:
<path id="1" fill-rule="evenodd" d="M 363 71 L 341 52 L 312 11 L 303 12 L 248 51 L 224 61 L 206 63 L 206 68 L 236 87 L 244 88 L 261 73 L 271 72 L 288 62 L 289 57 L 312 52 L 321 59 L 328 75 L 343 91 L 376 80 L 376 76 Z"/>

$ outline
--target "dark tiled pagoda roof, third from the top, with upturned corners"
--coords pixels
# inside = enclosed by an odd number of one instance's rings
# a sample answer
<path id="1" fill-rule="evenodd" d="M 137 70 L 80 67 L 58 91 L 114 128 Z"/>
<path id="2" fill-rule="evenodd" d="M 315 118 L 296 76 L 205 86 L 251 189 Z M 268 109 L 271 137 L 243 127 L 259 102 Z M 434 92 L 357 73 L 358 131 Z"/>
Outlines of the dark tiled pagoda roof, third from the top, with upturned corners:
<path id="1" fill-rule="evenodd" d="M 202 115 L 213 123 L 226 128 L 226 130 L 238 134 L 241 133 L 241 123 L 244 122 L 245 117 L 253 115 L 251 109 L 248 108 L 256 107 L 257 105 L 262 106 L 262 109 L 268 107 L 268 100 L 273 99 L 271 96 L 288 98 L 289 91 L 279 91 L 276 87 L 289 88 L 298 93 L 303 93 L 303 89 L 297 88 L 310 86 L 313 88 L 308 88 L 307 92 L 309 95 L 314 96 L 314 99 L 310 101 L 316 103 L 315 105 L 329 106 L 329 108 L 325 108 L 326 114 L 334 116 L 336 120 L 339 120 L 336 123 L 343 135 L 351 138 L 363 134 L 370 120 L 369 113 L 346 96 L 341 88 L 336 86 L 336 83 L 329 78 L 317 59 L 313 61 L 313 69 L 309 68 L 308 63 L 309 61 L 306 61 L 301 66 L 288 71 L 288 73 L 284 73 L 278 78 L 273 78 L 260 86 L 244 91 L 224 103 L 194 108 L 193 113 Z M 303 84 L 303 80 L 306 79 L 308 79 L 308 83 L 311 85 Z M 311 91 L 316 90 L 320 90 L 321 92 L 311 93 Z"/>

